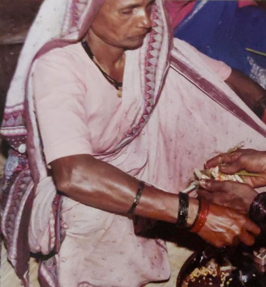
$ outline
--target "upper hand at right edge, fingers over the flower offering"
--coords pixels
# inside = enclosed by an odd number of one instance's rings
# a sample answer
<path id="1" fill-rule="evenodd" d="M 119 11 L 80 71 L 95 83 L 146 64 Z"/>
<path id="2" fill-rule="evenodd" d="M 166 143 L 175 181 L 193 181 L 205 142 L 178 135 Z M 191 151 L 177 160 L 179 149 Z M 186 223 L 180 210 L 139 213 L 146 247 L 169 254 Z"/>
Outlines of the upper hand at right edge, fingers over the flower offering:
<path id="1" fill-rule="evenodd" d="M 219 166 L 224 174 L 246 171 L 255 176 L 243 176 L 245 183 L 253 188 L 266 186 L 266 152 L 252 149 L 238 149 L 232 153 L 219 154 L 205 164 L 207 169 Z"/>

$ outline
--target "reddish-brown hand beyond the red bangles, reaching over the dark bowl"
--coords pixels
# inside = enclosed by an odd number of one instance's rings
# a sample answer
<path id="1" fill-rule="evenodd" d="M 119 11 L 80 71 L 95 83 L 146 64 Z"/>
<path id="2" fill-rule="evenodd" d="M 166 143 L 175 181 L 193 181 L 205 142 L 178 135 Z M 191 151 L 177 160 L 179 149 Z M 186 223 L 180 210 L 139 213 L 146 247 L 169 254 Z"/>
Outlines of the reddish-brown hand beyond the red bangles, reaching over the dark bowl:
<path id="1" fill-rule="evenodd" d="M 260 229 L 246 215 L 234 209 L 210 205 L 206 223 L 198 232 L 205 241 L 216 247 L 225 247 L 241 241 L 246 245 L 253 245 Z"/>

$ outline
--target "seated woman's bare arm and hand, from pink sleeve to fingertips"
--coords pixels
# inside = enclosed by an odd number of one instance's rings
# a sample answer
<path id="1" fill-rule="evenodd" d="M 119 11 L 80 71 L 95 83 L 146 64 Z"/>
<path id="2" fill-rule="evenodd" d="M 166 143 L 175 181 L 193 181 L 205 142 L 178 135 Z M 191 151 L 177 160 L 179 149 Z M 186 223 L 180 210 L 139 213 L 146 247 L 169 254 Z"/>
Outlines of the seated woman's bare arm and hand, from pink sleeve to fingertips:
<path id="1" fill-rule="evenodd" d="M 139 187 L 138 179 L 90 155 L 59 158 L 51 162 L 51 168 L 59 191 L 83 204 L 113 213 L 127 214 Z M 134 214 L 176 223 L 177 218 L 186 217 L 183 208 L 184 202 L 179 213 L 178 195 L 145 185 Z M 193 224 L 198 210 L 198 200 L 189 198 L 186 227 Z M 211 204 L 210 209 L 200 209 L 200 214 L 198 218 L 203 220 L 205 216 L 205 221 L 194 232 L 217 247 L 232 244 L 234 237 L 250 245 L 259 233 L 255 223 L 233 209 Z"/>

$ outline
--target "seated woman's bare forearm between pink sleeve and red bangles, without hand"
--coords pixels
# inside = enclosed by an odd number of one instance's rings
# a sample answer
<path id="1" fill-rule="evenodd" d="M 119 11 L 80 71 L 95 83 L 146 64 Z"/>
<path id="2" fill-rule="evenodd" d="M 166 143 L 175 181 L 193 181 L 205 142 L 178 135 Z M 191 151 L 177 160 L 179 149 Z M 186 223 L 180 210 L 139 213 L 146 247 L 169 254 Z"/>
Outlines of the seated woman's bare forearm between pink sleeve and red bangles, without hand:
<path id="1" fill-rule="evenodd" d="M 94 208 L 125 214 L 136 197 L 139 180 L 90 155 L 74 155 L 51 162 L 56 188 L 68 197 Z M 188 223 L 192 223 L 198 202 L 189 202 Z M 176 194 L 145 185 L 135 214 L 176 222 L 179 198 Z"/>

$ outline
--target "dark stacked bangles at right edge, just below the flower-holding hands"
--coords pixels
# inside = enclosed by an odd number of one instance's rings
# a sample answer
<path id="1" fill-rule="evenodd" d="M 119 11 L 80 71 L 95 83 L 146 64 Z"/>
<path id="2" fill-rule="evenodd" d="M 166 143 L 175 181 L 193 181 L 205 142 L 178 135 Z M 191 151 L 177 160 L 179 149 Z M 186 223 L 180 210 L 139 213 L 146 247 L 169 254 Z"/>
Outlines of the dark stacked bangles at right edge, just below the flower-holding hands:
<path id="1" fill-rule="evenodd" d="M 250 218 L 258 226 L 262 226 L 266 222 L 266 192 L 259 193 L 251 203 Z"/>

